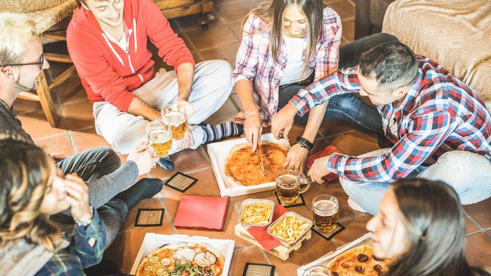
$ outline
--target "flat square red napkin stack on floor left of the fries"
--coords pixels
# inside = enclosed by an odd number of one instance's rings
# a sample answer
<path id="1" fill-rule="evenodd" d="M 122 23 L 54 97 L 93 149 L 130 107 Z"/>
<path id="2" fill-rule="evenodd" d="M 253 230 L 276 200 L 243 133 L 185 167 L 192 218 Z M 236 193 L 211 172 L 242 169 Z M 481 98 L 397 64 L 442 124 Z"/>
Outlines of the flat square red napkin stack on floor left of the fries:
<path id="1" fill-rule="evenodd" d="M 174 226 L 223 231 L 229 201 L 229 197 L 183 196 Z"/>

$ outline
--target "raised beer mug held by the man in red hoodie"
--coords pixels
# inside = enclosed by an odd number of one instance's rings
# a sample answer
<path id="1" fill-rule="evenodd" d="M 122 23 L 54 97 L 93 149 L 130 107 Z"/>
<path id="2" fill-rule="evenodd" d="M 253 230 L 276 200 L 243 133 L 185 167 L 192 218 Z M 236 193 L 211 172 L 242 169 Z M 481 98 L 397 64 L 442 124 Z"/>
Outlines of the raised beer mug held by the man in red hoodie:
<path id="1" fill-rule="evenodd" d="M 172 138 L 181 140 L 188 130 L 188 118 L 183 105 L 175 103 L 164 106 L 160 110 L 162 120 L 172 127 Z"/>

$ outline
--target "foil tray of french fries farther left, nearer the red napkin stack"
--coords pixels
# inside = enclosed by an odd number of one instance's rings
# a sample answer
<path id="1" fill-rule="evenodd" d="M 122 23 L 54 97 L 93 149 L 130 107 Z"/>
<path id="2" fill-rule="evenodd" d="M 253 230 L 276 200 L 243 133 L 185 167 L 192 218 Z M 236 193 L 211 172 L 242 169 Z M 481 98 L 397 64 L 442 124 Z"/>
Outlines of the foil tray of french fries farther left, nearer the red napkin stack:
<path id="1" fill-rule="evenodd" d="M 270 200 L 248 199 L 242 201 L 238 222 L 245 229 L 264 231 L 273 221 L 275 203 Z"/>

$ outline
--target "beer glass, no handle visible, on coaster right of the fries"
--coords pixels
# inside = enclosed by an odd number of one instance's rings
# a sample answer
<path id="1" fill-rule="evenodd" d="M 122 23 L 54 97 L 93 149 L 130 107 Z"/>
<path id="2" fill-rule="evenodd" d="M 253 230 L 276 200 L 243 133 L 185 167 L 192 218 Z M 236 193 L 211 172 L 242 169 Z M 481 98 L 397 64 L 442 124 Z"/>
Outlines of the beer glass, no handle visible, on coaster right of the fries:
<path id="1" fill-rule="evenodd" d="M 312 200 L 314 227 L 321 232 L 331 232 L 339 218 L 338 199 L 330 195 L 318 195 Z"/>

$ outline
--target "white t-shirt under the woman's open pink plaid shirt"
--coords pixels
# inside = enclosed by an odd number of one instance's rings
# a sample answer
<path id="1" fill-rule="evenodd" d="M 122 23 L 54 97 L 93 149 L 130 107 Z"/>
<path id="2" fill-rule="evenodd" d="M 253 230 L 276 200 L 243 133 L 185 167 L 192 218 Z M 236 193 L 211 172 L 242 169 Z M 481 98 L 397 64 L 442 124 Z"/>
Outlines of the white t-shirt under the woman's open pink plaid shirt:
<path id="1" fill-rule="evenodd" d="M 283 36 L 283 39 L 285 40 L 287 58 L 285 70 L 283 71 L 283 77 L 280 80 L 280 85 L 306 79 L 310 76 L 313 69 L 308 68 L 306 71 L 303 70 L 303 38 Z"/>

